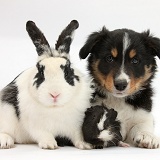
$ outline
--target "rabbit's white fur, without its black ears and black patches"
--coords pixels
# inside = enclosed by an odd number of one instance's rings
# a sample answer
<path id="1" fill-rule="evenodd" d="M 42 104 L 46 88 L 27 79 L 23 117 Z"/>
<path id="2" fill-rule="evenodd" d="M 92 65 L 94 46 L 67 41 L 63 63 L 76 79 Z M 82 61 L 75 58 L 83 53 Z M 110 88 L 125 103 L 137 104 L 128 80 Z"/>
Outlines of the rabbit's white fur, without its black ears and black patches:
<path id="1" fill-rule="evenodd" d="M 81 131 L 84 112 L 90 106 L 90 79 L 70 64 L 78 78 L 74 78 L 74 85 L 69 84 L 62 67 L 67 63 L 67 58 L 43 55 L 38 64 L 44 67 L 45 79 L 38 87 L 36 66 L 22 72 L 11 82 L 15 88 L 10 94 L 17 95 L 14 98 L 18 106 L 3 100 L 5 89 L 11 84 L 1 91 L 0 148 L 11 148 L 14 143 L 38 143 L 40 148 L 55 149 L 56 136 L 69 138 L 77 148 L 91 148 Z"/>

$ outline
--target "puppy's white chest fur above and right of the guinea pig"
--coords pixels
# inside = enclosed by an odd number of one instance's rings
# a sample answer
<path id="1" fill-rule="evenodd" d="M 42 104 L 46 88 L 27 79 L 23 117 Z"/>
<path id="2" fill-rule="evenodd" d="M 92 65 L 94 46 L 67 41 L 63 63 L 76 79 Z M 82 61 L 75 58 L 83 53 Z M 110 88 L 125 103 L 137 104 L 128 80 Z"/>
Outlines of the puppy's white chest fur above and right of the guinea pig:
<path id="1" fill-rule="evenodd" d="M 113 108 L 118 112 L 117 119 L 121 122 L 121 134 L 123 140 L 127 138 L 127 133 L 135 124 L 145 121 L 146 117 L 151 118 L 150 114 L 142 109 L 134 109 L 134 106 L 125 102 L 125 98 L 117 98 L 108 95 L 107 98 L 98 98 L 94 105 L 105 104 L 107 108 Z"/>

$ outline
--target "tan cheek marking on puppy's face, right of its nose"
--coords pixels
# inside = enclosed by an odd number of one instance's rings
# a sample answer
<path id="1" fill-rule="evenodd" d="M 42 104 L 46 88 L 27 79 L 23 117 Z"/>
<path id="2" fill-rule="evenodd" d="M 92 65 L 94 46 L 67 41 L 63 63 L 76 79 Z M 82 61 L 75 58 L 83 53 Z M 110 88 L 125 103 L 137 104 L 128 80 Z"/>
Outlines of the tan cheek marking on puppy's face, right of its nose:
<path id="1" fill-rule="evenodd" d="M 143 86 L 146 85 L 147 83 L 146 81 L 152 76 L 151 73 L 152 66 L 151 65 L 149 67 L 145 66 L 144 68 L 145 68 L 144 76 L 140 78 L 134 78 L 134 76 L 131 76 L 129 94 L 133 94 L 142 89 Z"/>

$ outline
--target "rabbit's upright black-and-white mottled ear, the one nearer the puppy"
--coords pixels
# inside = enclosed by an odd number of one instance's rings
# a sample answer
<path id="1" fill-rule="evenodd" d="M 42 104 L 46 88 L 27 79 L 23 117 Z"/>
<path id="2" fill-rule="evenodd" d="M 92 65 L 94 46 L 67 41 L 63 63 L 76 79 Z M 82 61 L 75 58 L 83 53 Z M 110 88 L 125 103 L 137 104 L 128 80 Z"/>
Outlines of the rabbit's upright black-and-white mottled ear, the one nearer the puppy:
<path id="1" fill-rule="evenodd" d="M 69 58 L 70 45 L 73 40 L 74 31 L 79 27 L 79 23 L 76 20 L 72 20 L 70 24 L 59 35 L 55 49 L 60 56 Z"/>

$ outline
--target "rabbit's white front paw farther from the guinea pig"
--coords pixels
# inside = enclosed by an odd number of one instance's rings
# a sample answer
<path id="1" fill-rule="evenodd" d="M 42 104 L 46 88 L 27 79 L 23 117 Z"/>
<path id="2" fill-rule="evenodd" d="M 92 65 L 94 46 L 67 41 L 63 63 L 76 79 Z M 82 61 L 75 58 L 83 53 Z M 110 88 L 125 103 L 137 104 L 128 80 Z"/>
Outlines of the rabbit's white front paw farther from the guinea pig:
<path id="1" fill-rule="evenodd" d="M 57 149 L 58 145 L 55 140 L 46 140 L 38 143 L 38 146 L 42 149 Z"/>

